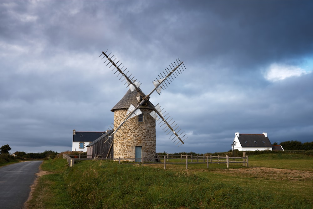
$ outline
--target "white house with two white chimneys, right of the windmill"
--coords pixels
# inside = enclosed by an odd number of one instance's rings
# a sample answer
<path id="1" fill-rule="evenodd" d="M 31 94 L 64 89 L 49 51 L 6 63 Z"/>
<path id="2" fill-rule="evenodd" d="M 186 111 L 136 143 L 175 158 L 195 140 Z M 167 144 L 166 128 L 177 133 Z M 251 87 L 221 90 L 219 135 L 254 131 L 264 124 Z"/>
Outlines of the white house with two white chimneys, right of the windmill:
<path id="1" fill-rule="evenodd" d="M 267 133 L 262 134 L 242 134 L 235 133 L 233 149 L 239 151 L 272 150 L 272 144 L 267 137 Z"/>

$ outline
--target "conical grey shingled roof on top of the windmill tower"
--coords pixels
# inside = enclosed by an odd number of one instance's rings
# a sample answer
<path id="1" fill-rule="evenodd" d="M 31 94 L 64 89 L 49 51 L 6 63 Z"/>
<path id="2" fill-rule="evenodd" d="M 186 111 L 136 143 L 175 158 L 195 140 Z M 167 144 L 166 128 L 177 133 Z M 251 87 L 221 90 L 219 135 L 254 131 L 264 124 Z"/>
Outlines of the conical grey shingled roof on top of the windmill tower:
<path id="1" fill-rule="evenodd" d="M 114 110 L 117 110 L 117 109 L 128 109 L 128 107 L 131 104 L 134 105 L 135 107 L 137 107 L 137 105 L 138 105 L 138 100 L 136 98 L 137 96 L 140 96 L 140 95 L 136 90 L 131 91 L 129 89 L 126 92 L 126 94 L 124 95 L 124 97 L 120 100 L 120 102 L 117 102 L 117 104 L 111 109 L 111 111 L 114 112 Z M 139 108 L 152 109 L 146 103 L 141 105 Z"/>

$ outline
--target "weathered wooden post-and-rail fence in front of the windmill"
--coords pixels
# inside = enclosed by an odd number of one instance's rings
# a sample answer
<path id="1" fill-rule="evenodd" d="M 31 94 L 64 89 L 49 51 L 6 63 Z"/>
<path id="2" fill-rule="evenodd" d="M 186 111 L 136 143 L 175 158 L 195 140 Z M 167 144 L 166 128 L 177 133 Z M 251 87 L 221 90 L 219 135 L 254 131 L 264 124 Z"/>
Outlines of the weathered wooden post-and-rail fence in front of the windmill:
<path id="1" fill-rule="evenodd" d="M 69 166 L 72 167 L 74 166 L 74 161 L 76 160 L 92 160 L 94 158 L 72 158 L 71 156 L 73 155 L 67 155 L 67 154 L 63 154 L 63 158 L 65 158 L 67 160 L 67 162 L 69 163 Z M 119 165 L 121 164 L 121 160 L 140 160 L 141 162 L 133 162 L 134 164 L 141 164 L 142 166 L 144 164 L 164 164 L 164 170 L 166 169 L 166 164 L 185 164 L 186 165 L 186 169 L 188 169 L 188 164 L 206 164 L 207 168 L 209 168 L 209 164 L 214 164 L 214 163 L 218 163 L 218 164 L 226 164 L 227 168 L 229 168 L 229 164 L 231 163 L 242 163 L 243 166 L 248 167 L 248 155 L 243 157 L 229 157 L 228 155 L 226 155 L 226 157 L 224 156 L 208 156 L 208 155 L 196 155 L 196 156 L 192 156 L 192 155 L 162 155 L 163 156 L 163 162 L 161 162 L 162 157 L 160 156 L 160 158 L 154 158 L 152 160 L 155 161 L 160 161 L 160 162 L 145 162 L 144 160 L 151 160 L 150 158 L 98 158 L 98 159 L 105 159 L 105 160 L 118 160 Z M 170 158 L 170 156 L 172 158 Z M 180 157 L 181 159 L 181 163 L 179 162 L 169 162 L 169 159 L 178 159 Z M 96 158 L 95 158 L 96 159 Z M 182 162 L 184 159 L 185 162 Z M 235 159 L 242 159 L 242 161 L 236 161 Z M 202 162 L 203 160 L 203 162 Z M 199 162 L 201 161 L 201 162 Z M 130 164 L 129 162 L 127 162 L 127 164 Z"/>

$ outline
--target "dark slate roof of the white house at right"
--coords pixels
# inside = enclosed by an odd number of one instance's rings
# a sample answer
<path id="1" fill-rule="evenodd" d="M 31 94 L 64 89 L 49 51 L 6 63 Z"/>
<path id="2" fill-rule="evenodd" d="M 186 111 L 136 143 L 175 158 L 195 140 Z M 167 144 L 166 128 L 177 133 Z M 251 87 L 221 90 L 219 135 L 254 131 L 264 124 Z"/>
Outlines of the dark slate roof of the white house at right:
<path id="1" fill-rule="evenodd" d="M 272 147 L 268 137 L 264 134 L 239 134 L 241 147 Z M 247 142 L 247 143 L 246 143 Z"/>

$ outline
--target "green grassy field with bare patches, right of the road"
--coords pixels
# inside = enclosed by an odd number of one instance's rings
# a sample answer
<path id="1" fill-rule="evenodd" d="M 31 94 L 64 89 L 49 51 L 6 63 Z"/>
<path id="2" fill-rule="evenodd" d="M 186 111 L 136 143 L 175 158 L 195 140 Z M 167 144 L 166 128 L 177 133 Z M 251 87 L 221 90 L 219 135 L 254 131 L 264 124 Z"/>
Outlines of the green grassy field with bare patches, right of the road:
<path id="1" fill-rule="evenodd" d="M 156 167 L 160 168 L 156 168 Z M 45 161 L 30 208 L 311 208 L 313 158 L 263 154 L 242 164 Z M 264 168 L 265 167 L 265 168 Z M 275 168 L 275 169 L 273 169 Z M 280 170 L 283 169 L 283 170 Z M 287 170 L 293 169 L 293 170 Z"/>

